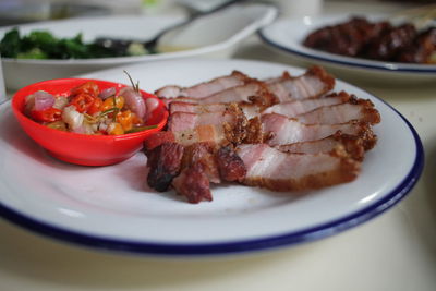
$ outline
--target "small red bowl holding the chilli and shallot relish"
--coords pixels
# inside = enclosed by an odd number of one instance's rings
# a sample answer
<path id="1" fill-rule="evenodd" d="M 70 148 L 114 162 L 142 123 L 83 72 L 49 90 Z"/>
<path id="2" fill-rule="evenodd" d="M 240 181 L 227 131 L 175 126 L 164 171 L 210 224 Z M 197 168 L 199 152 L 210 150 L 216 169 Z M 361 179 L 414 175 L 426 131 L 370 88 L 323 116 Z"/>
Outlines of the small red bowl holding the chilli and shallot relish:
<path id="1" fill-rule="evenodd" d="M 20 89 L 12 98 L 12 110 L 23 130 L 51 156 L 76 165 L 107 166 L 132 157 L 141 150 L 144 141 L 153 133 L 160 131 L 168 119 L 168 111 L 162 101 L 153 111 L 146 125 L 157 125 L 156 129 L 122 135 L 86 135 L 63 132 L 44 126 L 27 118 L 24 112 L 25 97 L 37 90 L 46 90 L 53 95 L 68 96 L 70 90 L 85 82 L 95 82 L 100 90 L 116 87 L 119 90 L 126 85 L 89 78 L 59 78 L 28 85 Z M 141 90 L 143 98 L 157 98 Z"/>

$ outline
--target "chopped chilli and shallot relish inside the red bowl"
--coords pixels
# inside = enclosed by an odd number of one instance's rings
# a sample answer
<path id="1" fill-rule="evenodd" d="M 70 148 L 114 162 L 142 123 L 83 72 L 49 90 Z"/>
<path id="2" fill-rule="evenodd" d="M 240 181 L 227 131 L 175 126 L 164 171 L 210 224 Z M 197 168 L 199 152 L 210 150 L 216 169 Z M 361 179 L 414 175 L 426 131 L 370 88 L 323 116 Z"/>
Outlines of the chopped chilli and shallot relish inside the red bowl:
<path id="1" fill-rule="evenodd" d="M 94 82 L 73 88 L 69 96 L 38 90 L 26 97 L 25 114 L 48 128 L 95 135 L 118 135 L 148 130 L 147 118 L 158 107 L 144 99 L 137 86 L 100 90 Z"/>

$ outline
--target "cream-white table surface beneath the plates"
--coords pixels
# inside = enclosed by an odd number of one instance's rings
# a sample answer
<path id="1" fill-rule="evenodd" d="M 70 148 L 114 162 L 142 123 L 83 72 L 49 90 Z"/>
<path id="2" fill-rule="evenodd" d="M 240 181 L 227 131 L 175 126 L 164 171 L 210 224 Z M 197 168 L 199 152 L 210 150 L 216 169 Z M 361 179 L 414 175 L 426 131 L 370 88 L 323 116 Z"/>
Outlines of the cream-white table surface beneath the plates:
<path id="1" fill-rule="evenodd" d="M 397 8 L 328 2 L 325 12 Z M 255 37 L 235 57 L 293 64 Z M 382 216 L 307 244 L 192 260 L 101 253 L 0 220 L 0 290 L 436 290 L 436 84 L 356 85 L 399 110 L 425 148 L 420 182 Z"/>

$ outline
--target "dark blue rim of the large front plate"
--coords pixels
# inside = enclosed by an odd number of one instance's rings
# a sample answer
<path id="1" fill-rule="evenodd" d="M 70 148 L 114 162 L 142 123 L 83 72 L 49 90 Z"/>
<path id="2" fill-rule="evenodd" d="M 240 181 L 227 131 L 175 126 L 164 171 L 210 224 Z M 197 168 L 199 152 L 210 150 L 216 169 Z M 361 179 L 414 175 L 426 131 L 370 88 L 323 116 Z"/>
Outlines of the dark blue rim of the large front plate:
<path id="1" fill-rule="evenodd" d="M 347 82 L 343 82 L 349 84 Z M 370 93 L 368 93 L 370 94 Z M 274 235 L 268 238 L 241 240 L 235 242 L 223 243 L 206 243 L 206 244 L 167 244 L 167 243 L 152 243 L 152 242 L 137 242 L 119 240 L 111 238 L 104 238 L 99 235 L 92 235 L 80 231 L 72 231 L 60 228 L 47 222 L 39 221 L 23 213 L 16 211 L 1 203 L 0 201 L 0 217 L 15 223 L 32 232 L 39 233 L 52 239 L 63 242 L 72 243 L 75 245 L 87 246 L 97 250 L 114 251 L 120 253 L 134 253 L 143 255 L 164 255 L 164 256 L 210 256 L 210 255 L 226 255 L 226 254 L 242 254 L 255 251 L 265 251 L 282 246 L 295 245 L 300 243 L 312 242 L 323 238 L 327 238 L 352 227 L 359 226 L 392 207 L 413 189 L 419 181 L 424 168 L 424 148 L 421 138 L 412 124 L 393 107 L 384 101 L 383 99 L 370 94 L 377 98 L 393 112 L 396 112 L 408 125 L 415 142 L 415 160 L 409 173 L 404 179 L 386 194 L 382 199 L 368 205 L 364 209 L 355 211 L 351 215 L 341 217 L 330 222 L 320 223 L 301 231 L 291 231 L 289 233 Z M 4 105 L 4 104 L 3 104 Z"/>

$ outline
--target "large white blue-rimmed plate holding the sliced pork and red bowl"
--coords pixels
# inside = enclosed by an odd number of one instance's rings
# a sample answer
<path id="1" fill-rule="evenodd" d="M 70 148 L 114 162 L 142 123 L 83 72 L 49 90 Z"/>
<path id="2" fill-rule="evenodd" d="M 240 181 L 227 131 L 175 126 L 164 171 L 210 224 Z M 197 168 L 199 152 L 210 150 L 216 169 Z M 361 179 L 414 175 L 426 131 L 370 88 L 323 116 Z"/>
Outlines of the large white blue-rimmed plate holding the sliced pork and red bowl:
<path id="1" fill-rule="evenodd" d="M 124 68 L 141 87 L 191 85 L 240 70 L 271 77 L 301 69 L 242 60 L 179 60 Z M 121 69 L 87 74 L 124 82 Z M 101 168 L 50 158 L 20 130 L 10 102 L 0 108 L 0 215 L 64 241 L 109 250 L 167 255 L 253 252 L 302 243 L 343 231 L 383 213 L 415 184 L 423 167 L 416 132 L 395 109 L 352 85 L 344 89 L 371 99 L 383 121 L 376 147 L 352 182 L 295 197 L 242 185 L 218 185 L 214 201 L 189 204 L 173 192 L 146 184 L 146 157 Z M 398 141 L 401 141 L 399 144 Z"/>

